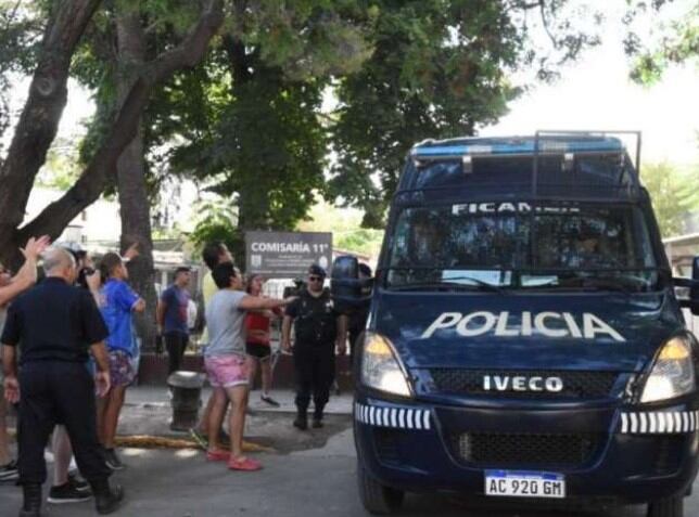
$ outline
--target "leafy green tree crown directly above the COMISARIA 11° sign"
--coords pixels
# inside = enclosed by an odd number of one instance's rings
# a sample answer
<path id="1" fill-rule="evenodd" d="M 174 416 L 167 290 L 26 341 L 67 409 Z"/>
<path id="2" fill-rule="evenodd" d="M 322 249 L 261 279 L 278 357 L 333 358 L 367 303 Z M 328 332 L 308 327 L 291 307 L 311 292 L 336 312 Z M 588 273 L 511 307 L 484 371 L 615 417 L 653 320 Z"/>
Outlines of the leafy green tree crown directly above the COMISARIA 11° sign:
<path id="1" fill-rule="evenodd" d="M 371 21 L 358 5 L 309 1 L 274 14 L 264 20 L 271 25 L 265 33 L 225 34 L 194 73 L 199 86 L 183 78 L 168 92 L 168 109 L 190 122 L 177 128 L 185 143 L 170 164 L 229 199 L 237 214 L 231 249 L 240 260 L 246 230 L 292 230 L 325 190 L 323 90 L 332 74 L 355 72 L 370 54 Z"/>

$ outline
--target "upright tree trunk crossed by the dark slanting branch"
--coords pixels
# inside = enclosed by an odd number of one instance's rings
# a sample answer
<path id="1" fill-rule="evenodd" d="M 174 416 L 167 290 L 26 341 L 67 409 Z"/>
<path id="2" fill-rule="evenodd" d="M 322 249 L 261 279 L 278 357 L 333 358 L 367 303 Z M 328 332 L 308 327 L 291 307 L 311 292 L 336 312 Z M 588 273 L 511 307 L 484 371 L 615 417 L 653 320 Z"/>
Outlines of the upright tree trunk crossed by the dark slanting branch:
<path id="1" fill-rule="evenodd" d="M 123 7 L 120 7 L 124 9 Z M 123 104 L 136 82 L 138 70 L 145 63 L 145 36 L 138 12 L 118 12 L 117 33 L 117 93 Z M 129 283 L 145 300 L 145 312 L 136 318 L 136 326 L 143 350 L 155 346 L 155 306 L 153 241 L 151 235 L 150 203 L 145 186 L 143 132 L 140 128 L 116 164 L 116 185 L 122 217 L 122 253 L 134 243 L 139 245 L 139 257 L 129 262 Z"/>

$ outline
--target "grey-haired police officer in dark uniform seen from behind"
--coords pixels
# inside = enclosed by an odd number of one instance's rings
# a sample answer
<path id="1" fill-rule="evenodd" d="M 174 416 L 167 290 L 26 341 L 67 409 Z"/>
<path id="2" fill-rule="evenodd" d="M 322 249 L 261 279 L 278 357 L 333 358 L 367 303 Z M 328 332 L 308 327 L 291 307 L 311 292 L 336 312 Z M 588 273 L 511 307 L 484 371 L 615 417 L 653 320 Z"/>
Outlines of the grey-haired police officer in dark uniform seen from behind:
<path id="1" fill-rule="evenodd" d="M 21 517 L 41 515 L 41 484 L 47 479 L 43 448 L 56 422 L 65 425 L 80 473 L 92 487 L 100 514 L 114 512 L 124 497 L 110 488 L 111 470 L 97 438 L 94 388 L 85 363 L 88 348 L 98 365 L 98 392 L 110 388 L 102 316 L 88 292 L 74 287 L 73 256 L 61 248 L 43 258 L 46 280 L 17 298 L 8 311 L 3 348 L 5 398 L 20 401 Z M 17 379 L 16 347 L 22 348 Z"/>

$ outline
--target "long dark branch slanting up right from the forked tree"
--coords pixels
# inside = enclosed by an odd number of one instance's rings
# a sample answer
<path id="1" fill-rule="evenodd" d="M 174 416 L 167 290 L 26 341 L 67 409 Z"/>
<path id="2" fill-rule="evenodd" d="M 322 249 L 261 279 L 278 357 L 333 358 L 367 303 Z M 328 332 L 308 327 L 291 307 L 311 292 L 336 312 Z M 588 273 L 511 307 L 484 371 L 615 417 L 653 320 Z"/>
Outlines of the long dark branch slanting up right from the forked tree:
<path id="1" fill-rule="evenodd" d="M 175 72 L 196 65 L 208 43 L 224 22 L 223 0 L 208 0 L 194 29 L 169 52 L 147 63 L 134 82 L 110 135 L 99 148 L 78 181 L 60 199 L 20 231 L 20 236 L 49 234 L 56 237 L 82 209 L 102 194 L 110 180 L 116 177 L 116 163 L 138 130 L 140 116 L 152 90 Z"/>

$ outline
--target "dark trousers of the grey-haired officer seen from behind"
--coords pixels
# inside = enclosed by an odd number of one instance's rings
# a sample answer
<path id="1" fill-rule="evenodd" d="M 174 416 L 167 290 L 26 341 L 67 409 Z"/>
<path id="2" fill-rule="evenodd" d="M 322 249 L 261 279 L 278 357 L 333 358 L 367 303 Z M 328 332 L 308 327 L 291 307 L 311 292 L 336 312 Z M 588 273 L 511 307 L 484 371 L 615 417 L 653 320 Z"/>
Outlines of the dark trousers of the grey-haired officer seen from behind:
<path id="1" fill-rule="evenodd" d="M 43 449 L 56 424 L 65 425 L 80 474 L 90 482 L 105 480 L 97 438 L 94 383 L 81 363 L 37 361 L 20 372 L 20 482 L 43 483 L 47 479 Z"/>

